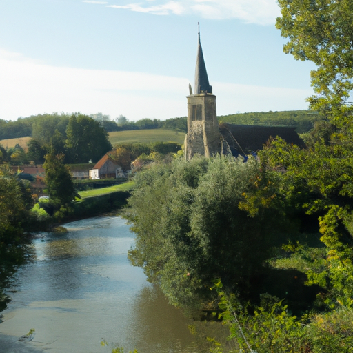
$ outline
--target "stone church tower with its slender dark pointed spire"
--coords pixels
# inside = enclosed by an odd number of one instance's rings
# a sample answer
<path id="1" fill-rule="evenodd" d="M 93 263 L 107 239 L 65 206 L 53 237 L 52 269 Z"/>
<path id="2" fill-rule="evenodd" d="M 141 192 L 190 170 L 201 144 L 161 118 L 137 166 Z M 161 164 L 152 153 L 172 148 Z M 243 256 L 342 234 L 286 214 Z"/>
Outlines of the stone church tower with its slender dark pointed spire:
<path id="1" fill-rule="evenodd" d="M 195 90 L 188 98 L 188 133 L 185 136 L 185 158 L 192 159 L 194 154 L 205 157 L 221 153 L 221 134 L 216 116 L 216 96 L 208 82 L 205 61 L 200 42 L 196 58 Z"/>

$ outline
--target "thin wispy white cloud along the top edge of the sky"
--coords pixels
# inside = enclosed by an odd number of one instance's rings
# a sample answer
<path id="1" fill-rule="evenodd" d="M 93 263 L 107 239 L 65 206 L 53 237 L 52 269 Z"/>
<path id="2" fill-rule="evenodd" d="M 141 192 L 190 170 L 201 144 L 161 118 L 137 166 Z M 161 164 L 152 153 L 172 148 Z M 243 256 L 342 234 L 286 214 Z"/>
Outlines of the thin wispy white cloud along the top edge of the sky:
<path id="1" fill-rule="evenodd" d="M 273 24 L 280 15 L 276 0 L 154 0 L 153 6 L 151 3 L 144 0 L 107 7 L 157 15 L 196 14 L 205 19 L 240 19 L 260 25 Z"/>

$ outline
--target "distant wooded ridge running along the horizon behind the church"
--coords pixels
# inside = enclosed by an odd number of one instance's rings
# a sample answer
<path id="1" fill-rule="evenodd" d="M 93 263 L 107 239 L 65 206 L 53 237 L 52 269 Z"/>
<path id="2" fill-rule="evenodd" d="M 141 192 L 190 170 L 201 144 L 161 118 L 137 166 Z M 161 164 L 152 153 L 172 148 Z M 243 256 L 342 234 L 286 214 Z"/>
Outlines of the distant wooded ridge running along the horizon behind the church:
<path id="1" fill-rule="evenodd" d="M 19 118 L 17 121 L 5 121 L 0 119 L 0 140 L 14 139 L 17 137 L 36 137 L 38 130 L 43 130 L 43 121 L 52 119 L 58 125 L 58 130 L 65 131 L 68 119 L 71 114 L 38 114 L 28 118 Z M 177 117 L 167 120 L 141 119 L 139 121 L 129 121 L 122 115 L 115 120 L 111 120 L 108 115 L 102 113 L 91 114 L 90 117 L 107 131 L 123 130 L 145 130 L 145 129 L 168 129 L 187 132 L 186 117 Z M 218 117 L 220 123 L 234 123 L 239 125 L 265 125 L 265 126 L 291 126 L 296 128 L 296 132 L 309 132 L 314 122 L 318 121 L 319 114 L 307 110 L 293 110 L 284 112 L 250 112 L 242 114 L 230 114 Z"/>

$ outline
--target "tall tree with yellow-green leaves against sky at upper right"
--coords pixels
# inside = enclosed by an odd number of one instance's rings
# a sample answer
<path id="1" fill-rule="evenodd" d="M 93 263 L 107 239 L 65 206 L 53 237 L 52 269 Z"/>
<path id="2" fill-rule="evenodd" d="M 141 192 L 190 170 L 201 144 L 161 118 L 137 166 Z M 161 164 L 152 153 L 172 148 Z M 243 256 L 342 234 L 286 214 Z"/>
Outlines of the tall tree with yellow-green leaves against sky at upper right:
<path id="1" fill-rule="evenodd" d="M 326 114 L 339 128 L 350 123 L 353 89 L 353 3 L 350 0 L 279 0 L 282 17 L 276 22 L 281 35 L 289 38 L 283 50 L 295 59 L 310 60 L 312 109 Z"/>

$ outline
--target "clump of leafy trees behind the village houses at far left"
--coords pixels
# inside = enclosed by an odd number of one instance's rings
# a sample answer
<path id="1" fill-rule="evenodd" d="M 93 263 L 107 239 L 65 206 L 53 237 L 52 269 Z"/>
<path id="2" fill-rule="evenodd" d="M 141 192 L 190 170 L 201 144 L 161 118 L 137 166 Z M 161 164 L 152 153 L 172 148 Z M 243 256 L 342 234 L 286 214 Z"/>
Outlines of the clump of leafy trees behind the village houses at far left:
<path id="1" fill-rule="evenodd" d="M 65 163 L 96 163 L 112 150 L 108 132 L 83 114 L 43 115 L 32 123 L 28 152 L 20 145 L 6 149 L 0 145 L 0 163 L 43 163 L 46 154 L 62 154 Z"/>

